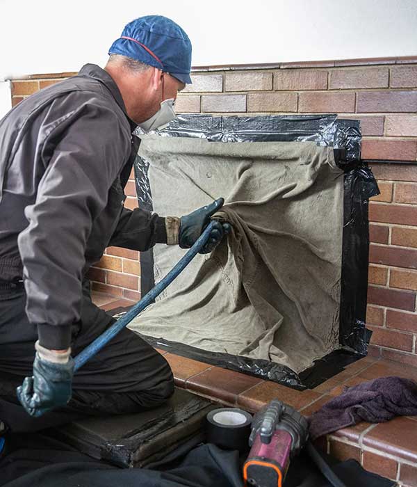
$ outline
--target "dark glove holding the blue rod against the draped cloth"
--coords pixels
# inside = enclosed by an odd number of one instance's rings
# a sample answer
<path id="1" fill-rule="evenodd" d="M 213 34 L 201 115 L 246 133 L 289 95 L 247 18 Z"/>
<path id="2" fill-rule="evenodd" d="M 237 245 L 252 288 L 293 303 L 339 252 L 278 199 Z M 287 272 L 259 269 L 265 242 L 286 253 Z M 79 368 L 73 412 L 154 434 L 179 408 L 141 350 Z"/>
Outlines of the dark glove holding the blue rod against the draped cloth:
<path id="1" fill-rule="evenodd" d="M 219 211 L 223 206 L 223 203 L 224 199 L 219 198 L 218 200 L 213 201 L 211 205 L 196 209 L 189 215 L 181 216 L 179 219 L 178 236 L 178 244 L 181 248 L 190 248 L 195 244 L 198 237 L 211 222 L 211 216 Z M 215 218 L 213 218 L 213 221 L 215 221 L 215 226 L 213 227 L 213 230 L 211 230 L 207 243 L 202 250 L 199 251 L 200 254 L 212 252 L 215 247 L 220 244 L 224 234 L 229 234 L 231 232 L 230 223 L 222 223 Z"/>

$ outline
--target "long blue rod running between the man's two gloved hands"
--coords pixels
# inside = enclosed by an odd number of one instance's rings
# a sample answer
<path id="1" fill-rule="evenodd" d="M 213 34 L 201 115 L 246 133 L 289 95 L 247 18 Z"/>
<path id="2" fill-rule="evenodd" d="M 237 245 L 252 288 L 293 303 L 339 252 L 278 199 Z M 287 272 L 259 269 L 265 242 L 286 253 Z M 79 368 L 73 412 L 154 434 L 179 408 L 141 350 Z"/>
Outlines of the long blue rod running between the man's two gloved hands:
<path id="1" fill-rule="evenodd" d="M 112 338 L 114 338 L 117 333 L 120 332 L 126 325 L 128 325 L 133 318 L 138 316 L 138 314 L 145 310 L 149 304 L 151 304 L 156 296 L 161 294 L 163 290 L 171 284 L 171 282 L 179 276 L 179 274 L 190 264 L 193 258 L 199 253 L 199 250 L 204 247 L 208 238 L 210 237 L 211 230 L 213 228 L 214 222 L 212 221 L 204 230 L 204 232 L 199 236 L 193 247 L 188 250 L 186 255 L 184 255 L 177 264 L 167 273 L 167 275 L 161 279 L 158 284 L 155 285 L 145 296 L 133 306 L 124 316 L 118 319 L 115 324 L 108 328 L 104 333 L 97 337 L 94 342 L 86 346 L 85 349 L 80 352 L 74 359 L 75 366 L 74 372 L 82 367 L 85 362 L 90 360 L 92 356 L 100 351 L 104 345 L 106 345 Z"/>

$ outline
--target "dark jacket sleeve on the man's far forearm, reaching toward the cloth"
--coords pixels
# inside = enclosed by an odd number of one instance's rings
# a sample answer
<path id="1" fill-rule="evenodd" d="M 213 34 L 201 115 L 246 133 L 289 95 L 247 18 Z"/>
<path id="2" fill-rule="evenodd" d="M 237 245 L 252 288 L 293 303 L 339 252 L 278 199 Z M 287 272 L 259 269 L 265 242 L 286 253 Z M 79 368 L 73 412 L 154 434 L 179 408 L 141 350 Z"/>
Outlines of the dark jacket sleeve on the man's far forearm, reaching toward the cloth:
<path id="1" fill-rule="evenodd" d="M 166 243 L 165 218 L 145 209 L 124 208 L 109 245 L 142 251 Z"/>

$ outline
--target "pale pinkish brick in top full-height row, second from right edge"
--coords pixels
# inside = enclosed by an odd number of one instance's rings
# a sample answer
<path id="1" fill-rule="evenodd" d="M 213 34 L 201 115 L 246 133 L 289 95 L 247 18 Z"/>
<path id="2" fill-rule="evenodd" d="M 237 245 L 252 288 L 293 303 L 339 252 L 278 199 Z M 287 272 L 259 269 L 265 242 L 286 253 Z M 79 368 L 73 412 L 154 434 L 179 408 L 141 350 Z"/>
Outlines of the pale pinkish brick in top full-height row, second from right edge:
<path id="1" fill-rule="evenodd" d="M 388 88 L 388 67 L 330 72 L 329 90 L 348 88 Z"/>

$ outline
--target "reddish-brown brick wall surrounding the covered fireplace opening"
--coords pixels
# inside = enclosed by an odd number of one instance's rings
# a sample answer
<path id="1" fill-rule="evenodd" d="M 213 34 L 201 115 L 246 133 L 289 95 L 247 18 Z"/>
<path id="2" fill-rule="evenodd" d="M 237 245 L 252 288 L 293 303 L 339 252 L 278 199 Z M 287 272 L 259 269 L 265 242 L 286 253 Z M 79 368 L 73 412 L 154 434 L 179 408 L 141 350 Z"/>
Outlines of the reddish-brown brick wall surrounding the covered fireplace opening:
<path id="1" fill-rule="evenodd" d="M 13 80 L 13 105 L 72 73 Z M 338 113 L 361 120 L 362 157 L 381 195 L 370 202 L 370 353 L 417 366 L 417 56 L 195 67 L 178 113 Z M 133 174 L 126 206 L 137 205 Z M 140 296 L 138 253 L 108 248 L 93 289 Z"/>

